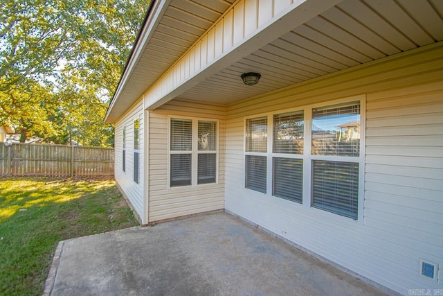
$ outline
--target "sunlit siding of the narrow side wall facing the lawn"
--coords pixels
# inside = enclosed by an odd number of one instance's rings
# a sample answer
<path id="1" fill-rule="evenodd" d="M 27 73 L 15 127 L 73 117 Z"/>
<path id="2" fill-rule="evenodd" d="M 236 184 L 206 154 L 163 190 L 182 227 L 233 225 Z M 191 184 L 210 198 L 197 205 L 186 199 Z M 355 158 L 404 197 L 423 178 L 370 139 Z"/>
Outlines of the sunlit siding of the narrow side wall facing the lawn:
<path id="1" fill-rule="evenodd" d="M 134 182 L 134 120 L 140 119 L 138 131 L 139 177 Z M 116 182 L 125 193 L 139 217 L 143 217 L 143 104 L 136 103 L 125 116 L 118 120 L 115 128 L 115 177 Z M 123 172 L 123 127 L 126 126 L 126 170 Z"/>

